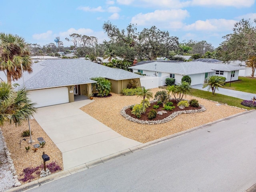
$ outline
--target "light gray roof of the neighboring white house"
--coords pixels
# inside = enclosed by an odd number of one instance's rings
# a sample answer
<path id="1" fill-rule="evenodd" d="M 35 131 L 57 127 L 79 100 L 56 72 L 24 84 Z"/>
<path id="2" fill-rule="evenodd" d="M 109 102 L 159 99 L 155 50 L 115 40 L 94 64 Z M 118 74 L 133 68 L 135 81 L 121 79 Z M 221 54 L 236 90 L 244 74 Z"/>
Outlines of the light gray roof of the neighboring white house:
<path id="1" fill-rule="evenodd" d="M 164 62 L 152 62 L 142 64 L 139 66 L 132 66 L 132 69 L 148 70 L 156 72 L 166 72 L 182 75 L 191 75 L 199 73 L 214 72 L 216 70 L 233 71 L 240 70 L 242 68 L 225 65 L 225 64 L 212 64 L 206 62 L 180 62 L 180 63 L 164 63 Z"/>

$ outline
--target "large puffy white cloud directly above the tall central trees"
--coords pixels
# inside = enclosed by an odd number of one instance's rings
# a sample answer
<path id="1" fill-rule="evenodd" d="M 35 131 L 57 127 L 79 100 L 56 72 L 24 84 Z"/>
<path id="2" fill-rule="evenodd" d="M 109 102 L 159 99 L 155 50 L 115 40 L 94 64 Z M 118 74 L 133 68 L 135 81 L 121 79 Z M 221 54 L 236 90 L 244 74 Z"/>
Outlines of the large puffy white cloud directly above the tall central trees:
<path id="1" fill-rule="evenodd" d="M 138 26 L 148 26 L 148 25 L 163 25 L 172 24 L 177 22 L 178 26 L 180 26 L 180 21 L 184 20 L 189 16 L 187 10 L 155 10 L 154 12 L 146 13 L 146 14 L 137 14 L 132 17 L 131 23 L 137 24 Z M 174 26 L 172 28 L 175 28 Z"/>

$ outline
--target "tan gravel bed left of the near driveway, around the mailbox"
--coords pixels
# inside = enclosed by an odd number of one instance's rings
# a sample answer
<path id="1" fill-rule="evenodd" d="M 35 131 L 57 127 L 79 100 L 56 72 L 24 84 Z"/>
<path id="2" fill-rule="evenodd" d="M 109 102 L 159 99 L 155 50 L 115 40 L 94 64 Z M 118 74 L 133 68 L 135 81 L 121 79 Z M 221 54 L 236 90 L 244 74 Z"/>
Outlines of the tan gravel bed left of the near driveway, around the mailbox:
<path id="1" fill-rule="evenodd" d="M 9 151 L 11 153 L 11 158 L 13 160 L 14 167 L 16 169 L 18 179 L 20 180 L 23 178 L 22 171 L 24 168 L 27 167 L 36 167 L 40 166 L 43 163 L 42 160 L 42 152 L 45 152 L 50 156 L 50 161 L 46 162 L 46 164 L 55 161 L 59 166 L 61 166 L 63 170 L 63 163 L 62 163 L 62 153 L 57 148 L 57 146 L 52 142 L 52 140 L 49 138 L 49 136 L 44 132 L 44 130 L 41 128 L 41 126 L 36 122 L 36 120 L 32 119 L 30 120 L 30 127 L 32 130 L 32 144 L 29 144 L 28 141 L 30 140 L 30 137 L 22 137 L 21 133 L 23 130 L 28 129 L 28 122 L 24 122 L 24 124 L 20 127 L 16 127 L 14 124 L 5 124 L 1 127 L 3 136 L 5 138 L 5 142 L 9 148 Z M 46 144 L 43 148 L 38 148 L 36 152 L 32 150 L 34 144 L 39 144 L 37 138 L 42 137 L 44 138 Z M 28 138 L 26 141 L 22 140 L 23 138 Z M 21 147 L 20 147 L 20 140 L 21 141 Z M 25 146 L 30 146 L 30 150 L 26 152 Z M 5 164 L 2 164 L 2 166 Z M 0 165 L 1 167 L 1 165 Z M 1 176 L 0 178 L 3 178 L 4 176 Z M 39 176 L 35 179 L 40 178 Z M 22 182 L 21 182 L 22 183 Z M 1 182 L 2 185 L 2 182 Z"/>

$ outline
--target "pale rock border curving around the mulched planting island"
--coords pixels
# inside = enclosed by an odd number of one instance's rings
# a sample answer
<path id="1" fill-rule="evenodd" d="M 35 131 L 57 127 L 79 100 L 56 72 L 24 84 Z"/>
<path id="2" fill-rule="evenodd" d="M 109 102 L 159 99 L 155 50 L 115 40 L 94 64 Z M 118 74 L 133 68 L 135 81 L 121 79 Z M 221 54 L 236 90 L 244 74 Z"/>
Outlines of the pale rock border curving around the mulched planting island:
<path id="1" fill-rule="evenodd" d="M 156 102 L 156 100 L 152 100 L 150 101 L 150 103 Z M 200 112 L 204 112 L 206 111 L 206 108 L 203 105 L 199 105 L 201 107 L 201 109 L 195 109 L 195 110 L 183 110 L 183 111 L 176 111 L 173 112 L 172 114 L 170 114 L 168 117 L 162 119 L 162 120 L 156 120 L 156 121 L 144 121 L 144 120 L 139 120 L 136 118 L 131 117 L 130 115 L 128 115 L 125 110 L 130 108 L 130 106 L 133 105 L 129 105 L 129 106 L 125 106 L 122 108 L 122 110 L 120 111 L 120 114 L 126 118 L 129 121 L 135 122 L 135 123 L 140 123 L 140 124 L 149 124 L 149 125 L 154 125 L 154 124 L 160 124 L 160 123 L 166 123 L 170 120 L 172 120 L 173 118 L 175 118 L 176 116 L 178 116 L 179 114 L 188 114 L 188 113 L 200 113 Z"/>

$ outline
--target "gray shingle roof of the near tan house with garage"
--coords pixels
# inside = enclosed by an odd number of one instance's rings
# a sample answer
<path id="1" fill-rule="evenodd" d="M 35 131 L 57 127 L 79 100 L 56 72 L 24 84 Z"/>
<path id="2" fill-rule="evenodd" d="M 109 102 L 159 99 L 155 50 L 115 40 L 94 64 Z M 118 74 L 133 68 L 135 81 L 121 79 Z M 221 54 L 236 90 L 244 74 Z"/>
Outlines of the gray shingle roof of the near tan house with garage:
<path id="1" fill-rule="evenodd" d="M 32 74 L 24 72 L 24 82 L 28 90 L 94 83 L 93 77 L 112 80 L 141 78 L 142 76 L 122 69 L 110 68 L 83 59 L 45 60 L 34 63 Z M 0 77 L 6 80 L 4 72 Z M 13 83 L 23 85 L 22 78 Z"/>

